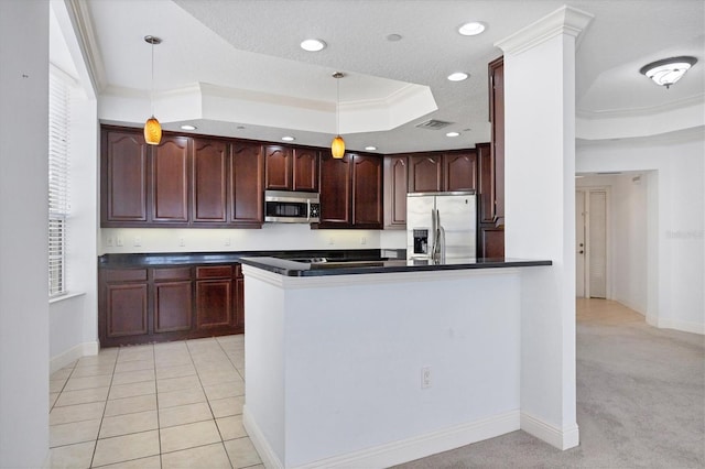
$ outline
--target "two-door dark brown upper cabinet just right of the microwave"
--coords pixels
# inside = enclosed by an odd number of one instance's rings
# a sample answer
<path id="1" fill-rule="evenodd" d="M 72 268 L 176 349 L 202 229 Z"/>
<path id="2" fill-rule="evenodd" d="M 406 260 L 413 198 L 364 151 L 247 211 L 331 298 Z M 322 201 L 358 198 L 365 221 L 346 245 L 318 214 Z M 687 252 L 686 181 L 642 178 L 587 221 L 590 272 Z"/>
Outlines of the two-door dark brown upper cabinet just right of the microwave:
<path id="1" fill-rule="evenodd" d="M 346 153 L 321 159 L 319 228 L 381 229 L 382 159 Z"/>

